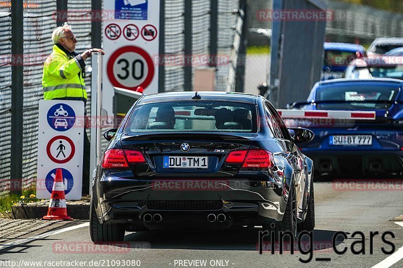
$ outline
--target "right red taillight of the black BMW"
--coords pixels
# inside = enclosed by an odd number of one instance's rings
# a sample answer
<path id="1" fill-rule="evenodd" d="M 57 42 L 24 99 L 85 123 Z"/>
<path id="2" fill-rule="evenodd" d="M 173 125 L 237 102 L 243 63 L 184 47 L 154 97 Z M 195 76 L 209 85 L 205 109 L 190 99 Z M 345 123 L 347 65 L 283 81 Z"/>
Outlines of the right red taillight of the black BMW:
<path id="1" fill-rule="evenodd" d="M 235 150 L 225 159 L 228 164 L 242 164 L 242 168 L 268 168 L 274 166 L 273 155 L 263 149 Z"/>

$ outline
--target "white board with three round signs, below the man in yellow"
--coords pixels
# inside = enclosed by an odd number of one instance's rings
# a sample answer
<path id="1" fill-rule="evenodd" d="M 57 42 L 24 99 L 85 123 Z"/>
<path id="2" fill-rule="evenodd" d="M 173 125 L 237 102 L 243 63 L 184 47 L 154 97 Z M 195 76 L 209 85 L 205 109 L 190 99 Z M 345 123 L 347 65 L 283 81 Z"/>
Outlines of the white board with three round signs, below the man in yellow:
<path id="1" fill-rule="evenodd" d="M 81 199 L 84 123 L 84 102 L 39 101 L 37 198 L 50 199 L 60 168 L 66 199 Z"/>

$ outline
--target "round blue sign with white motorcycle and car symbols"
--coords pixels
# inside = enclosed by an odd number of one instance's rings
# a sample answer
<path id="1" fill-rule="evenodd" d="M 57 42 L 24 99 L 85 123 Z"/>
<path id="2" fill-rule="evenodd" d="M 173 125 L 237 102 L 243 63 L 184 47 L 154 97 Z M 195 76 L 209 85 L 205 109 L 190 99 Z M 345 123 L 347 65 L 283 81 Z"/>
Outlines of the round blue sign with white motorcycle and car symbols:
<path id="1" fill-rule="evenodd" d="M 56 131 L 67 131 L 74 126 L 76 114 L 69 105 L 56 104 L 49 109 L 47 122 Z"/>

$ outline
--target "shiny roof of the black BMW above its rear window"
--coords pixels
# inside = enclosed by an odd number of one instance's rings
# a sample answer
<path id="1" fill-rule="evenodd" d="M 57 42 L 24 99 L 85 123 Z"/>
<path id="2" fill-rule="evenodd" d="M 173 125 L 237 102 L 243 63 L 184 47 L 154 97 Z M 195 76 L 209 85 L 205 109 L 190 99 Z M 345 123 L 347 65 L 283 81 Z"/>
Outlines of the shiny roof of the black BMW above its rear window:
<path id="1" fill-rule="evenodd" d="M 157 103 L 170 101 L 194 101 L 196 92 L 169 92 L 147 95 L 140 99 L 139 103 Z M 197 93 L 200 101 L 223 101 L 223 102 L 239 102 L 248 104 L 257 104 L 257 98 L 263 98 L 259 95 L 235 93 L 235 92 L 211 92 L 202 91 Z"/>

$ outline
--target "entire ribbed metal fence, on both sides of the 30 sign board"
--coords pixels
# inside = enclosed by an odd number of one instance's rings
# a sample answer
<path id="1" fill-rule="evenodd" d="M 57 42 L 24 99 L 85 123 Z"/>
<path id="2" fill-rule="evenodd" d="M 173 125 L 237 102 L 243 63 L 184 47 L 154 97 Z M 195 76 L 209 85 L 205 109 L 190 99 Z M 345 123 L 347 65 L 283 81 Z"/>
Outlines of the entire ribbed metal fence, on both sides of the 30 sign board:
<path id="1" fill-rule="evenodd" d="M 24 0 L 22 16 L 12 16 L 12 9 L 15 8 L 17 0 L 5 0 L 0 5 L 0 129 L 2 131 L 2 143 L 0 144 L 0 195 L 5 195 L 13 190 L 10 187 L 10 178 L 22 180 L 22 189 L 35 187 L 36 165 L 37 165 L 37 138 L 38 138 L 38 108 L 39 100 L 42 99 L 42 69 L 43 62 L 52 51 L 51 33 L 60 26 L 65 20 L 72 26 L 72 30 L 78 39 L 77 51 L 83 51 L 94 44 L 94 34 L 100 36 L 102 33 L 92 33 L 92 29 L 101 29 L 94 27 L 94 20 L 91 17 L 91 11 L 94 6 L 101 9 L 96 0 Z M 12 5 L 12 3 L 14 3 Z M 103 3 L 103 1 L 101 1 Z M 211 3 L 214 3 L 212 6 Z M 217 22 L 217 40 L 216 53 L 220 56 L 226 55 L 228 58 L 234 53 L 239 53 L 234 46 L 234 36 L 237 29 L 235 26 L 239 23 L 239 0 L 192 0 L 191 12 L 186 13 L 185 8 L 189 8 L 188 0 L 166 0 L 164 17 L 164 49 L 161 54 L 173 54 L 185 56 L 185 51 L 191 55 L 209 55 L 212 51 L 212 37 L 210 35 L 212 28 L 212 14 L 216 12 Z M 13 7 L 12 7 L 13 6 Z M 18 11 L 18 10 L 17 10 Z M 61 12 L 61 13 L 60 13 Z M 67 15 L 66 18 L 59 16 Z M 190 16 L 190 17 L 188 17 Z M 185 32 L 189 31 L 185 26 L 185 19 L 191 19 L 191 38 L 190 42 L 185 42 Z M 13 69 L 15 62 L 12 52 L 13 47 L 21 47 L 21 44 L 13 43 L 13 25 L 23 22 L 23 73 L 17 74 Z M 185 29 L 187 27 L 187 30 Z M 100 43 L 100 42 L 97 42 Z M 191 50 L 189 49 L 189 43 Z M 213 42 L 214 43 L 214 42 Z M 22 48 L 21 48 L 22 50 Z M 15 50 L 14 50 L 15 51 Z M 214 51 L 214 50 L 213 50 Z M 215 55 L 214 55 L 215 56 Z M 87 61 L 89 66 L 90 61 Z M 216 66 L 217 90 L 225 91 L 227 83 L 234 77 L 229 77 L 230 64 L 236 68 L 236 64 L 228 62 Z M 194 69 L 206 67 L 207 64 L 190 66 L 190 87 L 185 86 L 185 70 L 189 70 L 186 64 L 181 66 L 164 67 L 164 90 L 165 91 L 184 91 L 191 90 Z M 88 70 L 89 71 L 89 70 Z M 87 102 L 87 114 L 90 115 L 90 97 L 91 97 L 91 73 L 87 71 L 85 79 L 89 100 Z M 13 74 L 14 73 L 14 74 Z M 232 72 L 232 75 L 237 75 Z M 15 86 L 18 84 L 13 81 L 14 77 L 21 78 L 23 94 L 22 112 L 12 109 L 12 102 L 16 100 L 16 94 L 12 95 Z M 21 77 L 20 77 L 20 76 Z M 239 73 L 238 73 L 239 75 Z M 18 80 L 18 79 L 17 79 Z M 20 87 L 20 88 L 21 88 Z M 13 97 L 14 96 L 14 97 Z M 14 98 L 14 99 L 13 99 Z M 17 99 L 18 99 L 17 98 Z M 14 107 L 18 104 L 14 104 Z M 22 122 L 22 140 L 15 137 L 12 133 L 12 118 L 21 126 Z M 13 122 L 15 124 L 15 122 Z M 15 132 L 16 130 L 14 130 Z M 15 134 L 15 133 L 14 133 Z M 12 159 L 12 144 L 18 144 L 22 147 L 21 159 Z M 15 145 L 13 145 L 15 146 Z M 18 146 L 16 146 L 18 148 Z M 18 153 L 17 153 L 18 154 Z M 14 162 L 13 162 L 14 161 Z M 21 166 L 22 170 L 18 169 Z M 14 170 L 14 173 L 13 173 Z M 20 170 L 15 172 L 15 170 Z M 19 175 L 16 175 L 19 174 Z M 12 186 L 13 187 L 13 186 Z"/>

